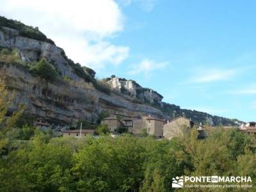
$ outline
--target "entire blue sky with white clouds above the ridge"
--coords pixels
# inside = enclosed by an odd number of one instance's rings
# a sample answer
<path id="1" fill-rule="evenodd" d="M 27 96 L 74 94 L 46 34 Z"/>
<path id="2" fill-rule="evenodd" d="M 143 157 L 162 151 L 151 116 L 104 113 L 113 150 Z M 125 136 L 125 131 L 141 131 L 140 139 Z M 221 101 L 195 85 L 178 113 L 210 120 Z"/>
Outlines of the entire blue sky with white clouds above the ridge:
<path id="1" fill-rule="evenodd" d="M 256 120 L 256 1 L 0 0 L 97 78 L 115 74 L 164 102 Z"/>

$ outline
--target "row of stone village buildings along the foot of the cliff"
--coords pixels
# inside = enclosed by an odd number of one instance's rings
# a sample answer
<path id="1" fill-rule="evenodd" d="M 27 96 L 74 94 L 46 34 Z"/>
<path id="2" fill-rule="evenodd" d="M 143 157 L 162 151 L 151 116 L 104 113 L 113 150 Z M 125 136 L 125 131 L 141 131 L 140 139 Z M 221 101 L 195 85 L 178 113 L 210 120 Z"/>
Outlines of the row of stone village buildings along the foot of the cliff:
<path id="1" fill-rule="evenodd" d="M 36 120 L 34 125 L 40 127 L 40 129 L 50 127 L 58 132 L 58 136 L 63 137 L 83 138 L 88 134 L 95 136 L 95 129 L 70 129 L 67 124 L 50 124 L 45 120 Z M 189 129 L 196 129 L 198 131 L 198 139 L 207 137 L 205 127 L 202 123 L 196 124 L 191 118 L 186 118 L 184 115 L 172 118 L 172 120 L 160 119 L 151 115 L 133 118 L 119 118 L 118 116 L 113 115 L 103 118 L 100 125 L 108 127 L 109 133 L 113 138 L 120 136 L 120 129 L 122 129 L 122 132 L 134 136 L 144 132 L 147 135 L 153 136 L 155 140 L 161 140 L 163 138 L 171 140 L 184 132 L 188 132 Z M 243 123 L 240 127 L 224 126 L 223 128 L 236 129 L 237 131 L 256 134 L 255 122 Z"/>

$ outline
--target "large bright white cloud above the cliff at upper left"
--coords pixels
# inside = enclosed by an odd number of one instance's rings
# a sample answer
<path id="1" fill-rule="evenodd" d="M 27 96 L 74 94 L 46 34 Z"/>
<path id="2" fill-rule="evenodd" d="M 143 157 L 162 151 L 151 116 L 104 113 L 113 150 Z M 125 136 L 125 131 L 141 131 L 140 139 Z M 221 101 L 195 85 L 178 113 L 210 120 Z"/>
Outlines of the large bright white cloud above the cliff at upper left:
<path id="1" fill-rule="evenodd" d="M 95 69 L 107 63 L 117 65 L 129 54 L 129 47 L 106 40 L 124 25 L 124 15 L 114 0 L 0 0 L 0 4 L 1 15 L 38 26 L 82 65 Z"/>

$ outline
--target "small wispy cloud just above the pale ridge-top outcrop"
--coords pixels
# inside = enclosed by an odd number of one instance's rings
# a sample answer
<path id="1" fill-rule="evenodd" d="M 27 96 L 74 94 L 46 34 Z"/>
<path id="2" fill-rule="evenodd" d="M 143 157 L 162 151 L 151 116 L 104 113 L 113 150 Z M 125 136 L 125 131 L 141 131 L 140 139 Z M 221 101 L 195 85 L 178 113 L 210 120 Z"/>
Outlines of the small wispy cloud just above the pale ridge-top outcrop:
<path id="1" fill-rule="evenodd" d="M 156 62 L 145 58 L 137 65 L 133 65 L 131 70 L 128 71 L 128 74 L 143 74 L 144 76 L 150 76 L 151 72 L 162 69 L 168 64 L 168 62 Z"/>

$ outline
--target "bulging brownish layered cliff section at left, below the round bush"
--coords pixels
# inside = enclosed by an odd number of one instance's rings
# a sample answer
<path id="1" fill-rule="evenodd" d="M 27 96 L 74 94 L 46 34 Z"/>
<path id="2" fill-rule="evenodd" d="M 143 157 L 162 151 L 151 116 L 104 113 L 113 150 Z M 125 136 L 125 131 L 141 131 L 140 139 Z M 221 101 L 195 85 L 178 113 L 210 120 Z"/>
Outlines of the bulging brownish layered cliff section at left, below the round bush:
<path id="1" fill-rule="evenodd" d="M 67 124 L 97 120 L 99 96 L 90 84 L 48 83 L 15 65 L 0 65 L 0 76 L 15 94 L 14 107 L 22 102 L 36 118 Z"/>

